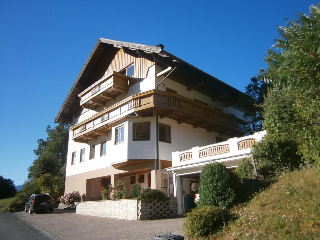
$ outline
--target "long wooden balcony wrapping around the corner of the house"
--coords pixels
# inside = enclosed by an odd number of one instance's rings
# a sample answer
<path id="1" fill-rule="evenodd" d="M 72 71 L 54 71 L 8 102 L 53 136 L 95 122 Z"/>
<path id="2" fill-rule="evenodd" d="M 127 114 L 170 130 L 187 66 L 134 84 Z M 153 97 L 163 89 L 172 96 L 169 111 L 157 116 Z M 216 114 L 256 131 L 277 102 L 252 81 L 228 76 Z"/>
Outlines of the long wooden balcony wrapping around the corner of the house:
<path id="1" fill-rule="evenodd" d="M 160 115 L 160 119 L 168 117 L 176 120 L 178 124 L 191 124 L 193 128 L 201 127 L 207 132 L 219 132 L 220 135 L 240 136 L 245 133 L 246 122 L 242 119 L 177 93 L 150 90 L 132 95 L 71 127 L 72 139 L 79 142 L 97 139 L 98 135 L 107 135 L 111 125 L 119 119 L 156 114 Z"/>

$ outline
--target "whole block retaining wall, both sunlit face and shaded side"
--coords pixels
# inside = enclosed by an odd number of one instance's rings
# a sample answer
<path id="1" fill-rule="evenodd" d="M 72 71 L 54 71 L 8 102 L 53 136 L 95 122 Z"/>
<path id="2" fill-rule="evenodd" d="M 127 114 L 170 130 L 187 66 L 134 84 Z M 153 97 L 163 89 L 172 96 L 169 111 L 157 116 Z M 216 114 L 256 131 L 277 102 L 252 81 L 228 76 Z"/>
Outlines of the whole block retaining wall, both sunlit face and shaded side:
<path id="1" fill-rule="evenodd" d="M 177 198 L 148 203 L 137 199 L 77 202 L 76 214 L 125 220 L 152 220 L 177 216 Z"/>

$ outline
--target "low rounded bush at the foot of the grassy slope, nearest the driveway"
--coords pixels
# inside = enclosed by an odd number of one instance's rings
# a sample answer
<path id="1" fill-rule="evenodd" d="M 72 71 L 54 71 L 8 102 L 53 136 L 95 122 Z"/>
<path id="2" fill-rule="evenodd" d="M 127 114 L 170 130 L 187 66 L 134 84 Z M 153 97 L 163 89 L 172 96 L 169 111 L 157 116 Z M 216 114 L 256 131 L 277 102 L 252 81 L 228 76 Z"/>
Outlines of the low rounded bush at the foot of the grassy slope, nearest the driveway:
<path id="1" fill-rule="evenodd" d="M 182 228 L 188 239 L 198 239 L 213 234 L 221 230 L 229 219 L 227 209 L 215 206 L 197 207 L 186 215 Z"/>

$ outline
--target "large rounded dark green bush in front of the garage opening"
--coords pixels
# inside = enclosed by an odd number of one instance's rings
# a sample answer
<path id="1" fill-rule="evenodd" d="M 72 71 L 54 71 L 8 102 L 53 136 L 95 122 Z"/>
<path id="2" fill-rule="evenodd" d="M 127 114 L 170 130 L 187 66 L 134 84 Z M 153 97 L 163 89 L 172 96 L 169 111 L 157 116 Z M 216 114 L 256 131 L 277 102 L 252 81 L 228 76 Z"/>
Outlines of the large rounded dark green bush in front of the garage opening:
<path id="1" fill-rule="evenodd" d="M 199 206 L 227 207 L 233 204 L 241 191 L 241 183 L 235 173 L 224 164 L 204 165 L 200 174 Z"/>

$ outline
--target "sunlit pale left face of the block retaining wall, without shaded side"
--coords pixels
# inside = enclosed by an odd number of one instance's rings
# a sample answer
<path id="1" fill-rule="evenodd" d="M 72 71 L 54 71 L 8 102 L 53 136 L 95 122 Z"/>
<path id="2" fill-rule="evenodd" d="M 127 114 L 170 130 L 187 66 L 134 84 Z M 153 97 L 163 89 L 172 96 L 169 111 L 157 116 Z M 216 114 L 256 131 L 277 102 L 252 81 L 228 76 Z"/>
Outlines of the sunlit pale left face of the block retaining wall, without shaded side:
<path id="1" fill-rule="evenodd" d="M 76 204 L 76 214 L 137 220 L 137 199 L 89 201 Z"/>

